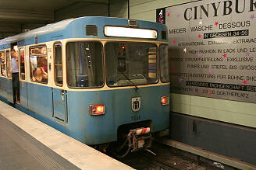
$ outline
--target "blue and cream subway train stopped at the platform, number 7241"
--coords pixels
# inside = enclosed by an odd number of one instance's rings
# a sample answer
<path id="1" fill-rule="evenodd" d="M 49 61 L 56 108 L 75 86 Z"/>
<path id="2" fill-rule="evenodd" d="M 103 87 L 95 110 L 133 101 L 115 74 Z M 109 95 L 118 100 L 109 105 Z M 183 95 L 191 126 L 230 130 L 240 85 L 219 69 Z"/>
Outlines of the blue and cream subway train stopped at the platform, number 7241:
<path id="1" fill-rule="evenodd" d="M 117 141 L 124 132 L 137 150 L 169 127 L 167 53 L 165 25 L 67 19 L 0 40 L 0 97 L 84 144 Z"/>

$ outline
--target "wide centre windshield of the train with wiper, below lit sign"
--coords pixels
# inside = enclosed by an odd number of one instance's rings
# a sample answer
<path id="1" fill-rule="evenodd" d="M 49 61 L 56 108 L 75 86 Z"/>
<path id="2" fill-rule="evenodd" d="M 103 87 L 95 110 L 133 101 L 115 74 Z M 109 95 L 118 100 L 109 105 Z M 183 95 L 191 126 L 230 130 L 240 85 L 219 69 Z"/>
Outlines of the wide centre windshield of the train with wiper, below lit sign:
<path id="1" fill-rule="evenodd" d="M 157 46 L 154 43 L 106 43 L 105 64 L 108 86 L 158 82 Z"/>

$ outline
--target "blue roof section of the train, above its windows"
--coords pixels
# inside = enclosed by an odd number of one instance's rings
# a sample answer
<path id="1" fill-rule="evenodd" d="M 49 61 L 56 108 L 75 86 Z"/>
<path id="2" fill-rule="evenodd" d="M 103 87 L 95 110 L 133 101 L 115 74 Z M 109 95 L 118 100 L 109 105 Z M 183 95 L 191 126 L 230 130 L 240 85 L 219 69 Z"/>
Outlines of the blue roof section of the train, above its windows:
<path id="1" fill-rule="evenodd" d="M 165 25 L 160 23 L 137 20 L 139 28 L 158 30 L 158 40 L 161 40 L 161 31 L 166 31 Z M 97 36 L 87 36 L 85 27 L 95 25 L 98 27 Z M 85 16 L 76 19 L 66 19 L 58 23 L 48 24 L 37 29 L 32 29 L 16 36 L 9 36 L 0 40 L 0 49 L 9 48 L 10 43 L 18 43 L 19 46 L 30 45 L 34 43 L 44 43 L 51 40 L 62 40 L 66 38 L 100 38 L 111 39 L 103 33 L 104 26 L 128 26 L 128 19 L 101 17 L 101 16 Z M 37 37 L 37 38 L 35 38 Z M 37 39 L 37 40 L 35 40 Z M 116 38 L 115 38 L 116 39 Z M 119 38 L 127 40 L 127 38 Z M 141 40 L 141 39 L 140 39 Z M 37 41 L 37 42 L 36 42 Z M 167 40 L 162 40 L 167 41 Z"/>

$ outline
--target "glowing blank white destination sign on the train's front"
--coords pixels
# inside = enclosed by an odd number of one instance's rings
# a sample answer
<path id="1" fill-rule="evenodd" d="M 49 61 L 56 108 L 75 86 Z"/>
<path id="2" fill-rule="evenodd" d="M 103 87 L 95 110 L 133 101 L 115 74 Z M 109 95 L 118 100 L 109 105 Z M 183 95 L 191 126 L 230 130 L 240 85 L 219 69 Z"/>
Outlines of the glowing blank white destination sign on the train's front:
<path id="1" fill-rule="evenodd" d="M 105 36 L 130 37 L 130 38 L 147 38 L 157 39 L 158 33 L 152 29 L 137 29 L 118 26 L 105 26 Z"/>

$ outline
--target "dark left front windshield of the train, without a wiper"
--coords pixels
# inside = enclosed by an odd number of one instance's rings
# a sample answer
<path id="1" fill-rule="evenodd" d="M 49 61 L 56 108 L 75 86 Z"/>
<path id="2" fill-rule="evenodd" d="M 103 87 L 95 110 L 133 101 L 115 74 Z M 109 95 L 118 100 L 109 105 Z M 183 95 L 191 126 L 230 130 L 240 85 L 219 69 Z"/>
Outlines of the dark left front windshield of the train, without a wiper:
<path id="1" fill-rule="evenodd" d="M 69 42 L 66 49 L 69 87 L 91 88 L 104 85 L 101 43 Z"/>

